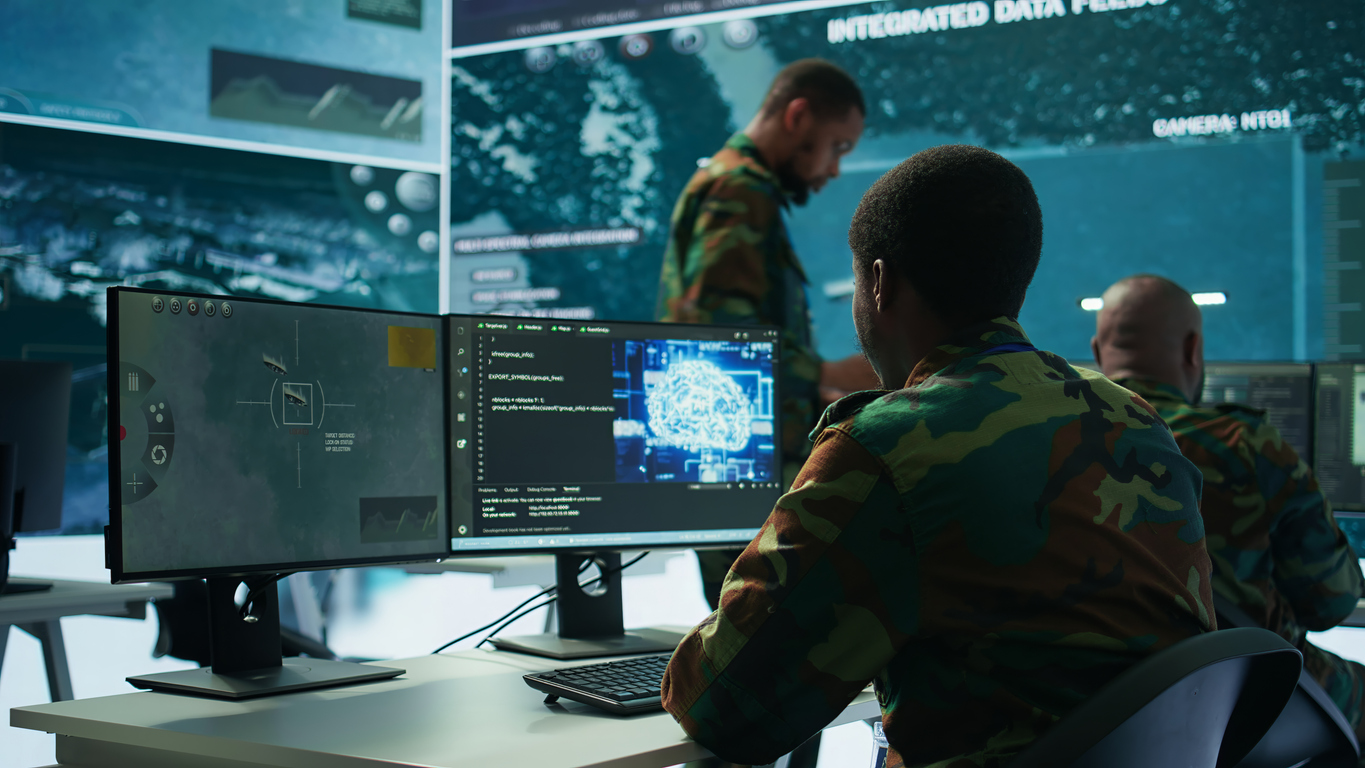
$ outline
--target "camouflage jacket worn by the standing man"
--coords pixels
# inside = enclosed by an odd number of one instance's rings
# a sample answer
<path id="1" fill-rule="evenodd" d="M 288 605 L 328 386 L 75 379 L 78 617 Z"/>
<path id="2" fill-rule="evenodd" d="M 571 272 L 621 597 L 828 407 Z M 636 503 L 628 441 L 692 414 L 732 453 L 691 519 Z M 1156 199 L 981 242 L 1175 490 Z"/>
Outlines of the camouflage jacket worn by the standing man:
<path id="1" fill-rule="evenodd" d="M 820 407 L 805 271 L 782 211 L 788 194 L 744 134 L 688 181 L 673 209 L 655 315 L 665 322 L 781 326 L 782 456 L 800 462 Z"/>

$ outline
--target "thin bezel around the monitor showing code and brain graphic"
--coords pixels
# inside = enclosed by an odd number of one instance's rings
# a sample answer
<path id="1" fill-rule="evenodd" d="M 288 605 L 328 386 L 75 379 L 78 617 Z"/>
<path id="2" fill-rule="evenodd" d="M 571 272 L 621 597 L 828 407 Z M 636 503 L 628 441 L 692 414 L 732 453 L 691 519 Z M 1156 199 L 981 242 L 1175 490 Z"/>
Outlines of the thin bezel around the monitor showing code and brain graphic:
<path id="1" fill-rule="evenodd" d="M 468 318 L 468 319 L 489 319 L 489 318 L 519 319 L 519 315 L 467 315 L 467 314 L 455 314 L 455 312 L 452 312 L 452 314 L 444 315 L 444 318 L 449 323 L 455 318 L 461 318 L 461 319 L 464 319 L 464 318 Z M 532 321 L 543 321 L 543 322 L 557 322 L 553 318 L 520 318 L 520 319 L 532 319 Z M 659 322 L 659 321 L 606 321 L 606 319 L 591 319 L 591 321 L 568 319 L 568 321 L 562 321 L 562 322 L 587 323 L 587 325 L 607 325 L 607 326 L 612 326 L 612 325 L 655 325 L 655 326 L 659 326 L 661 329 L 666 329 L 667 326 L 684 326 L 685 325 L 688 327 L 723 329 L 728 333 L 729 331 L 741 331 L 741 333 L 744 333 L 744 331 L 751 331 L 751 333 L 752 331 L 777 331 L 777 338 L 773 342 L 775 345 L 775 348 L 777 348 L 777 352 L 778 352 L 778 359 L 777 359 L 777 361 L 773 366 L 773 374 L 774 374 L 773 375 L 773 401 L 777 405 L 777 408 L 775 408 L 775 413 L 777 415 L 774 417 L 773 427 L 774 427 L 774 435 L 775 435 L 775 439 L 777 439 L 777 443 L 778 443 L 778 452 L 777 453 L 781 454 L 781 435 L 782 435 L 782 413 L 781 413 L 781 404 L 782 404 L 782 376 L 781 376 L 781 372 L 779 372 L 779 368 L 782 366 L 782 355 L 781 355 L 782 327 L 781 326 L 775 326 L 775 325 L 744 325 L 744 323 L 673 323 L 673 322 Z M 449 344 L 446 345 L 446 349 L 449 351 Z M 449 371 L 449 367 L 446 370 Z M 446 381 L 449 381 L 449 378 Z M 449 400 L 446 402 L 449 402 Z M 450 428 L 450 420 L 452 420 L 452 416 L 450 416 L 450 412 L 448 412 L 446 413 L 446 430 Z M 446 453 L 449 454 L 449 443 L 446 445 Z M 779 476 L 782 473 L 782 467 L 785 464 L 786 464 L 785 460 L 782 460 L 782 458 L 778 460 L 777 469 L 778 469 L 778 475 Z M 452 471 L 449 471 L 449 460 L 446 461 L 446 467 L 448 467 L 446 476 L 449 477 L 449 482 L 452 484 L 449 498 L 453 499 L 455 498 L 455 494 L 453 494 L 455 473 Z M 784 495 L 786 495 L 786 492 L 789 490 L 790 488 L 785 487 L 785 483 L 779 482 L 779 487 L 775 490 L 777 495 L 773 498 L 773 503 L 768 507 L 767 516 L 770 516 L 773 513 L 773 510 L 777 507 L 777 502 L 781 501 L 781 498 Z M 448 547 L 446 557 L 448 558 L 460 558 L 460 559 L 504 558 L 504 557 L 520 557 L 520 555 L 569 555 L 569 554 L 591 554 L 591 552 L 644 552 L 644 551 L 677 551 L 677 550 L 733 550 L 733 548 L 747 547 L 753 540 L 753 536 L 748 536 L 745 539 L 726 539 L 726 540 L 719 540 L 719 542 L 717 542 L 717 540 L 708 540 L 708 542 L 665 542 L 665 543 L 654 543 L 654 544 L 651 544 L 651 543 L 625 542 L 625 543 L 620 543 L 620 544 L 601 544 L 601 546 L 597 546 L 597 544 L 562 544 L 562 546 L 546 546 L 546 547 L 489 547 L 489 548 L 479 548 L 479 550 L 456 550 L 455 546 L 453 546 L 453 542 L 455 542 L 455 536 L 453 536 L 453 532 L 455 532 L 455 518 L 453 518 L 455 505 L 453 503 L 449 505 L 449 512 L 450 512 L 452 517 L 449 520 L 448 528 L 452 532 L 452 535 L 446 537 L 446 547 Z M 760 522 L 753 529 L 755 535 L 763 529 L 763 524 L 767 521 L 767 516 L 764 516 L 763 522 Z M 698 532 L 714 531 L 714 528 L 696 528 L 695 531 L 698 531 Z M 647 533 L 647 532 L 639 532 L 639 531 L 636 531 L 636 532 L 625 532 L 625 533 Z M 584 535 L 587 535 L 587 533 L 584 533 Z"/>

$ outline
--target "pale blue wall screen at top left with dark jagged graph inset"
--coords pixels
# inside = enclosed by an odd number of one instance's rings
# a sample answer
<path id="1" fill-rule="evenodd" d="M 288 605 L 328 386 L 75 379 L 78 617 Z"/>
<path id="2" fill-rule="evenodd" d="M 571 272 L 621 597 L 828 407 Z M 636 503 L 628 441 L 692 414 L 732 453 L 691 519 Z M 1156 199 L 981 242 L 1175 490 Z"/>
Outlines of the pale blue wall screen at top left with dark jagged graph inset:
<path id="1" fill-rule="evenodd" d="M 440 94 L 440 19 L 441 0 L 7 0 L 0 113 L 434 164 L 437 110 L 408 95 L 381 128 L 396 100 L 370 86 Z M 224 98 L 214 49 L 274 64 Z M 340 76 L 300 89 L 300 65 Z"/>

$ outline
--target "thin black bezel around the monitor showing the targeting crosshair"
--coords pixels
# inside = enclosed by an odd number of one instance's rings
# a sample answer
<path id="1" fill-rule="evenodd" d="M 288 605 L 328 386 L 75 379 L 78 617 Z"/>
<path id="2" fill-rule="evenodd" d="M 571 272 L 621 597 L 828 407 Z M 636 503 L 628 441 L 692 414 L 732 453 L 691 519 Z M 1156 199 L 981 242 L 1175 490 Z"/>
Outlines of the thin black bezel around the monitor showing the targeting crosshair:
<path id="1" fill-rule="evenodd" d="M 448 346 L 445 344 L 444 333 L 446 330 L 446 323 L 442 321 L 441 315 L 430 315 L 425 312 L 404 312 L 393 310 L 373 310 L 369 307 L 344 307 L 337 304 L 302 304 L 295 301 L 278 301 L 273 299 L 257 299 L 253 296 L 224 296 L 212 293 L 195 293 L 188 291 L 153 291 L 147 288 L 135 286 L 111 286 L 108 289 L 108 310 L 106 310 L 106 345 L 108 345 L 108 366 L 106 366 L 106 386 L 108 392 L 117 398 L 119 389 L 119 361 L 121 360 L 119 349 L 119 303 L 124 295 L 145 295 L 145 296 L 179 296 L 184 299 L 206 299 L 213 301 L 231 300 L 232 303 L 255 303 L 255 304 L 277 304 L 277 306 L 296 306 L 304 308 L 315 310 L 341 310 L 352 312 L 373 312 L 381 315 L 400 315 L 400 316 L 419 316 L 425 319 L 437 319 L 440 333 L 442 334 L 437 344 Z M 448 367 L 449 360 L 442 352 L 442 364 Z M 448 370 L 442 372 L 441 382 L 441 397 L 442 402 L 449 402 L 449 385 L 450 379 Z M 106 409 L 109 435 L 119 434 L 119 402 L 111 404 Z M 442 445 L 442 452 L 448 452 L 449 443 L 449 423 L 445 426 L 445 439 L 446 445 Z M 307 561 L 307 562 L 278 562 L 278 563 L 255 563 L 250 566 L 233 567 L 233 566 L 218 566 L 218 567 L 203 567 L 203 569 L 176 569 L 176 570 L 126 570 L 123 567 L 123 497 L 121 488 L 119 487 L 119 479 L 123 476 L 123 456 L 121 446 L 111 447 L 109 450 L 109 525 L 105 528 L 105 559 L 109 567 L 109 576 L 112 584 L 127 584 L 127 582 L 143 582 L 143 581 L 184 581 L 190 578 L 209 578 L 217 576 L 255 576 L 255 574 L 276 574 L 276 573 L 295 573 L 303 570 L 328 570 L 333 567 L 352 567 L 352 566 L 375 566 L 375 565 L 404 565 L 404 563 L 419 563 L 419 562 L 440 562 L 446 558 L 450 551 L 450 461 L 449 457 L 442 461 L 441 472 L 444 475 L 442 483 L 446 492 L 445 498 L 445 524 L 446 535 L 437 539 L 438 547 L 431 552 L 422 552 L 415 555 L 381 555 L 369 558 L 344 558 L 344 559 L 329 559 L 329 561 Z"/>

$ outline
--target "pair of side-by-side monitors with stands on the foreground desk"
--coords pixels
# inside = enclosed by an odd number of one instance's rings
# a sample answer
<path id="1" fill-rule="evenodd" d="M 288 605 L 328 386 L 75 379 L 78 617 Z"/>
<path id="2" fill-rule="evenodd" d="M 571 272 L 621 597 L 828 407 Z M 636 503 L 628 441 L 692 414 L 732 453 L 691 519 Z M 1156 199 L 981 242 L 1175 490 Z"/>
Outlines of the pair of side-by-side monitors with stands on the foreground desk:
<path id="1" fill-rule="evenodd" d="M 672 651 L 624 632 L 620 552 L 758 532 L 784 490 L 777 338 L 111 289 L 108 567 L 206 578 L 213 645 L 212 667 L 131 682 L 246 697 L 401 674 L 281 663 L 274 581 L 449 557 L 557 555 L 560 633 L 500 648 Z"/>

